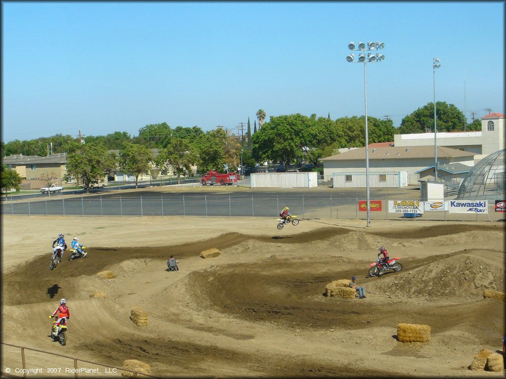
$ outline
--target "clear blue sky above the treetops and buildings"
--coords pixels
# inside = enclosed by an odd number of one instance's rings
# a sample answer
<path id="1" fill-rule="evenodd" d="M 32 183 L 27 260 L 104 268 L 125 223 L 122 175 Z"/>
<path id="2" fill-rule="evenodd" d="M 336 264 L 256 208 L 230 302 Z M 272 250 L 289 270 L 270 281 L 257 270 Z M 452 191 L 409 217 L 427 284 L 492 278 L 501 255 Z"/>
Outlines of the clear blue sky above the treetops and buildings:
<path id="1" fill-rule="evenodd" d="M 2 140 L 105 135 L 167 122 L 204 131 L 302 113 L 364 115 L 436 101 L 504 113 L 504 2 L 2 2 Z M 466 85 L 464 85 L 466 83 Z M 465 97 L 466 94 L 466 97 Z M 465 100 L 466 98 L 466 100 Z"/>

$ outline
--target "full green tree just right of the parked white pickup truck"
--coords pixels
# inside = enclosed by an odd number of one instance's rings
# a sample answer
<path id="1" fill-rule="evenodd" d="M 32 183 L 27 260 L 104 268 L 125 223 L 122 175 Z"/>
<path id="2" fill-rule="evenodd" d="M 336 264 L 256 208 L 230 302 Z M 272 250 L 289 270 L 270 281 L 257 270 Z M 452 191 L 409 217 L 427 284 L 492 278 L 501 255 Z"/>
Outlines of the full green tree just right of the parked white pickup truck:
<path id="1" fill-rule="evenodd" d="M 103 145 L 85 144 L 81 150 L 67 155 L 67 172 L 80 178 L 83 187 L 90 191 L 90 184 L 97 183 L 116 167 L 116 155 L 107 153 Z"/>

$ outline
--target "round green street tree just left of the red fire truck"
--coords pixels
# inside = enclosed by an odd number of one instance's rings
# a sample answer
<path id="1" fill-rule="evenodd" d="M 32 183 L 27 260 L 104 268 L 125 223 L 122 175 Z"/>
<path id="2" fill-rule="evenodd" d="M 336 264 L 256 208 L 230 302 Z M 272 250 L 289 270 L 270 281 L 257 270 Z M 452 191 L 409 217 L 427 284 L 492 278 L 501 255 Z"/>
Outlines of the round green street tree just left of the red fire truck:
<path id="1" fill-rule="evenodd" d="M 169 166 L 172 166 L 179 182 L 181 175 L 192 173 L 192 166 L 197 163 L 197 160 L 196 148 L 189 140 L 172 138 L 170 144 L 160 151 L 156 157 L 155 164 L 162 174 L 166 174 Z"/>

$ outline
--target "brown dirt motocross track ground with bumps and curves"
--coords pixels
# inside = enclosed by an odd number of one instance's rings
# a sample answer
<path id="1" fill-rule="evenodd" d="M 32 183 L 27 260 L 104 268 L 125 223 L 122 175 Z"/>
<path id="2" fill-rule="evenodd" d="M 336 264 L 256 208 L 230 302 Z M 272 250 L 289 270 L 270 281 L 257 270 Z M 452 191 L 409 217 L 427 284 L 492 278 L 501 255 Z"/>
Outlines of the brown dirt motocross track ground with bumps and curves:
<path id="1" fill-rule="evenodd" d="M 504 303 L 483 291 L 504 291 L 504 225 L 364 224 L 302 220 L 277 230 L 266 218 L 4 216 L 3 342 L 115 366 L 138 359 L 171 377 L 503 377 L 467 367 L 481 349 L 501 350 Z M 50 271 L 47 246 L 59 232 L 67 242 L 78 235 L 88 257 L 70 262 L 66 252 Z M 368 277 L 381 245 L 404 269 Z M 209 248 L 221 255 L 200 258 Z M 165 271 L 171 254 L 177 272 Z M 323 296 L 327 283 L 352 275 L 366 299 Z M 49 337 L 62 297 L 71 309 L 65 347 Z M 147 327 L 130 320 L 134 306 L 147 311 Z M 396 341 L 401 322 L 430 325 L 431 341 Z M 12 351 L 3 351 L 2 372 L 20 366 Z M 47 357 L 30 359 L 35 367 Z"/>

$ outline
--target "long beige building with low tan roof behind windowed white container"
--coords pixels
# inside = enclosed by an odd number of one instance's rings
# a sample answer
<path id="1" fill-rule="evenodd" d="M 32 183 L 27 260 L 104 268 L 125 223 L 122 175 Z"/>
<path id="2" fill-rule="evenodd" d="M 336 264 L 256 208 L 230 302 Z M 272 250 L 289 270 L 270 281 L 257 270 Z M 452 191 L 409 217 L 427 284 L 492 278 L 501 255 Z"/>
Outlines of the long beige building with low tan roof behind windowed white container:
<path id="1" fill-rule="evenodd" d="M 460 163 L 472 168 L 475 155 L 472 152 L 438 146 L 440 167 Z M 365 147 L 332 155 L 322 161 L 325 181 L 332 180 L 334 172 L 365 173 Z M 369 172 L 407 171 L 409 185 L 418 185 L 420 177 L 415 172 L 430 166 L 434 166 L 434 145 L 369 148 Z"/>

